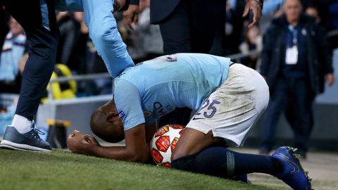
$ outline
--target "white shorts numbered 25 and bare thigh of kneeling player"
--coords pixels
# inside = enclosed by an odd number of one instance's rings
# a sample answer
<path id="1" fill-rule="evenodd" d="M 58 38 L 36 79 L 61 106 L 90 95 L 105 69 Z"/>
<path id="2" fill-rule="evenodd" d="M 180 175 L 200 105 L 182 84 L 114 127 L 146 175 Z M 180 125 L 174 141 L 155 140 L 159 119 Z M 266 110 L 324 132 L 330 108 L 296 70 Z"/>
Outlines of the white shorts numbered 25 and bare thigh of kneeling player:
<path id="1" fill-rule="evenodd" d="M 268 104 L 268 86 L 256 71 L 230 67 L 227 80 L 208 97 L 177 142 L 173 160 L 226 142 L 241 146 Z M 262 157 L 265 158 L 265 157 Z"/>

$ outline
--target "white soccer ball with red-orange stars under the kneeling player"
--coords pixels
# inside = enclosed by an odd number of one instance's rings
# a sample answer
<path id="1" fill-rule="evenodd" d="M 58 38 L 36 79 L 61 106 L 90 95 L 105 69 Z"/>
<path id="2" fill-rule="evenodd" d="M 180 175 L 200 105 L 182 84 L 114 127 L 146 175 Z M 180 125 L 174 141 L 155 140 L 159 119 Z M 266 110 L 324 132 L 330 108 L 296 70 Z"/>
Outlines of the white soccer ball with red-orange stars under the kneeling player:
<path id="1" fill-rule="evenodd" d="M 182 125 L 164 125 L 151 140 L 151 156 L 157 165 L 171 167 L 171 153 L 183 132 Z"/>

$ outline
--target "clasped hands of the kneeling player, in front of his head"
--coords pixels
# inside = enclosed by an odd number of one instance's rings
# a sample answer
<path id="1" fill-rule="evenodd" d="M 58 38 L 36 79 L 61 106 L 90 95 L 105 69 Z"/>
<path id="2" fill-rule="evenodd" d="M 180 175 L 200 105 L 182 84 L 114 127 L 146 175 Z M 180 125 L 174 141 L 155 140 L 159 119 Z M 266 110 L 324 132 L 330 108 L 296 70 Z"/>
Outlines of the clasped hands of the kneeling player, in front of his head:
<path id="1" fill-rule="evenodd" d="M 93 144 L 86 141 L 84 135 L 77 130 L 73 131 L 73 133 L 69 135 L 67 144 L 70 151 L 80 154 L 89 154 L 89 148 L 92 148 L 93 146 Z"/>

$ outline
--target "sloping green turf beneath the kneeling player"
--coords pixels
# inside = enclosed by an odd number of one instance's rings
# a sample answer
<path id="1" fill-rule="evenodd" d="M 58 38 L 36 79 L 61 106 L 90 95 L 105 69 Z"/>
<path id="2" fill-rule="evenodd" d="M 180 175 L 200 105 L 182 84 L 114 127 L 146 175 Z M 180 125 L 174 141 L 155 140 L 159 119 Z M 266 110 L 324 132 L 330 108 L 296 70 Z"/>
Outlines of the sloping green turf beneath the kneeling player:
<path id="1" fill-rule="evenodd" d="M 0 149 L 0 189 L 268 189 L 152 165 Z"/>

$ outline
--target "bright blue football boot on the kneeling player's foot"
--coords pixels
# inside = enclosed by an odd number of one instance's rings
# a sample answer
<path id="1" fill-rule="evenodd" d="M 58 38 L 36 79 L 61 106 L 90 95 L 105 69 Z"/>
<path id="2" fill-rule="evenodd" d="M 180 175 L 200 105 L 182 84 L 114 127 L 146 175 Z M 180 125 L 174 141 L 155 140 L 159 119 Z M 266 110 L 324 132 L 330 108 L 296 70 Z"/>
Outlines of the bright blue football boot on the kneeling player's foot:
<path id="1" fill-rule="evenodd" d="M 275 175 L 292 189 L 296 190 L 311 190 L 311 178 L 308 177 L 308 172 L 303 170 L 301 163 L 299 162 L 299 156 L 294 152 L 296 148 L 291 147 L 280 147 L 272 155 L 273 158 L 277 159 L 283 165 L 283 172 L 279 175 Z"/>

